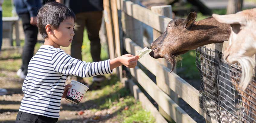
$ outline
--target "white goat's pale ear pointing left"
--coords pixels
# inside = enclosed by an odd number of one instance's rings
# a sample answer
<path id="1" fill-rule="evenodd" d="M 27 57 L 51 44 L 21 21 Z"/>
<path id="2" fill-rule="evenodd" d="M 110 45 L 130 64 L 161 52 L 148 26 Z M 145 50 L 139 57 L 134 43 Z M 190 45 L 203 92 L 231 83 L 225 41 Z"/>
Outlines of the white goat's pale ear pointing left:
<path id="1" fill-rule="evenodd" d="M 213 14 L 213 17 L 221 23 L 245 25 L 245 18 L 241 13 L 227 15 Z"/>

